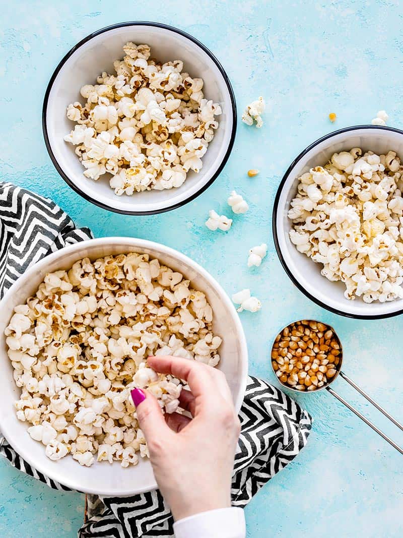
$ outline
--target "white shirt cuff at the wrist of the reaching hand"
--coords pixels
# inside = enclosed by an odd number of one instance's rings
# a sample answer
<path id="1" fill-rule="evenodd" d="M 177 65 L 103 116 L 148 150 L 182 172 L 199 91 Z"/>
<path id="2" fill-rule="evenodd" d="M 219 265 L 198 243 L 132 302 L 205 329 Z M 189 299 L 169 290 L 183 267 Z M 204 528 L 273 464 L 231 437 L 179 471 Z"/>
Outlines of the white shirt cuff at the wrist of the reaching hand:
<path id="1" fill-rule="evenodd" d="M 242 508 L 219 508 L 174 523 L 175 538 L 245 538 Z"/>

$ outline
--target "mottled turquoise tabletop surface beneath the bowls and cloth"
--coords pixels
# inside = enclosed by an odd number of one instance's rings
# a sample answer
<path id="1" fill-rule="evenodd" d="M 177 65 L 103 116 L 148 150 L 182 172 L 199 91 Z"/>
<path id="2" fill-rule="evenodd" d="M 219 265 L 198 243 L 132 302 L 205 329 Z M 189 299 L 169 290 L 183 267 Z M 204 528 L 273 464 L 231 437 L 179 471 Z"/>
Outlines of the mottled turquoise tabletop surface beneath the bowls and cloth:
<path id="1" fill-rule="evenodd" d="M 250 287 L 262 300 L 242 313 L 250 373 L 276 382 L 268 352 L 279 328 L 301 317 L 332 324 L 342 339 L 345 371 L 401 418 L 401 318 L 352 321 L 306 299 L 282 270 L 271 237 L 271 210 L 282 174 L 316 138 L 369 123 L 379 109 L 402 128 L 402 10 L 398 0 L 368 2 L 100 2 L 19 0 L 0 21 L 0 179 L 52 197 L 95 236 L 131 235 L 175 247 L 202 264 L 228 294 Z M 77 41 L 124 20 L 178 26 L 221 60 L 241 112 L 259 95 L 268 103 L 261 130 L 238 125 L 235 146 L 217 181 L 168 214 L 125 217 L 92 206 L 56 173 L 41 131 L 42 96 L 53 69 Z M 180 54 L 178 54 L 180 56 Z M 77 82 L 78 83 L 78 82 Z M 329 112 L 336 112 L 333 125 Z M 261 173 L 249 179 L 249 168 Z M 209 209 L 228 214 L 231 189 L 250 204 L 228 233 L 205 228 Z M 251 246 L 268 243 L 260 268 L 246 266 Z M 403 434 L 365 400 L 335 388 L 401 444 Z M 296 461 L 246 508 L 248 536 L 392 538 L 402 535 L 402 456 L 328 393 L 298 398 L 313 433 Z M 0 459 L 3 538 L 76 535 L 83 496 L 49 490 Z"/>

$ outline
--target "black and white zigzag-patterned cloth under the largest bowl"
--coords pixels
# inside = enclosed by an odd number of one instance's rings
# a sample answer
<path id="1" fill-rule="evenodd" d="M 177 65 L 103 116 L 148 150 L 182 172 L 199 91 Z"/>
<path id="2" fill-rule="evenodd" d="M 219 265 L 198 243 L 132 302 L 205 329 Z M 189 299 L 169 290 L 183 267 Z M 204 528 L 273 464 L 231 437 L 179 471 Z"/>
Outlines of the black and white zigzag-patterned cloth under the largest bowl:
<path id="1" fill-rule="evenodd" d="M 51 200 L 0 182 L 0 297 L 26 268 L 61 247 L 91 238 Z M 244 507 L 305 446 L 312 419 L 296 402 L 261 379 L 248 378 L 240 412 L 232 502 Z M 0 454 L 53 489 L 68 490 L 23 461 L 0 433 Z M 172 516 L 159 491 L 132 497 L 87 495 L 80 538 L 172 536 Z"/>

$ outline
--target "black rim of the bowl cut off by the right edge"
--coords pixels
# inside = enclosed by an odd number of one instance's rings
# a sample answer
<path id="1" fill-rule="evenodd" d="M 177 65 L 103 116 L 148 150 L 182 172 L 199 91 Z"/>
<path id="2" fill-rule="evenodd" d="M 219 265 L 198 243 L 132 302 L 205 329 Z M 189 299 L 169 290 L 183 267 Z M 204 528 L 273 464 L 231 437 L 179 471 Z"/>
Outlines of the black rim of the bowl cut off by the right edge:
<path id="1" fill-rule="evenodd" d="M 398 316 L 399 314 L 403 313 L 403 308 L 400 310 L 396 310 L 396 312 L 390 312 L 387 314 L 378 314 L 378 315 L 361 315 L 361 314 L 351 314 L 349 312 L 343 312 L 342 310 L 338 310 L 337 308 L 330 307 L 323 303 L 322 301 L 319 301 L 316 297 L 311 295 L 303 285 L 300 284 L 300 282 L 294 277 L 293 273 L 290 271 L 290 268 L 285 263 L 285 259 L 283 257 L 283 253 L 280 249 L 279 240 L 278 240 L 278 233 L 277 233 L 277 214 L 279 211 L 278 208 L 278 202 L 280 199 L 280 195 L 283 192 L 283 187 L 285 185 L 285 182 L 289 178 L 289 175 L 292 172 L 292 169 L 294 166 L 298 164 L 298 162 L 301 160 L 301 158 L 304 157 L 309 151 L 311 151 L 315 146 L 323 142 L 324 140 L 328 140 L 329 138 L 333 138 L 337 134 L 346 133 L 349 131 L 358 131 L 359 129 L 377 129 L 380 131 L 392 131 L 395 133 L 399 133 L 403 135 L 403 131 L 400 131 L 400 129 L 394 129 L 393 127 L 383 127 L 379 125 L 354 125 L 352 127 L 346 127 L 344 129 L 339 129 L 338 131 L 333 131 L 331 133 L 325 134 L 325 136 L 322 136 L 321 138 L 318 138 L 318 140 L 315 140 L 312 144 L 310 144 L 308 147 L 305 148 L 304 151 L 301 151 L 301 153 L 296 157 L 292 162 L 291 165 L 287 168 L 287 171 L 283 175 L 283 179 L 280 181 L 280 185 L 278 186 L 275 201 L 274 201 L 274 207 L 273 207 L 273 215 L 272 215 L 272 231 L 273 231 L 273 238 L 274 238 L 274 244 L 277 251 L 277 256 L 280 260 L 280 263 L 283 266 L 284 271 L 287 273 L 291 281 L 294 285 L 297 286 L 300 292 L 302 292 L 308 299 L 311 299 L 316 305 L 319 305 L 322 308 L 325 308 L 326 310 L 329 310 L 330 312 L 333 312 L 334 314 L 338 314 L 339 316 L 344 317 L 351 317 L 356 320 L 382 320 L 386 317 L 393 317 Z M 325 277 L 323 277 L 325 278 Z"/>

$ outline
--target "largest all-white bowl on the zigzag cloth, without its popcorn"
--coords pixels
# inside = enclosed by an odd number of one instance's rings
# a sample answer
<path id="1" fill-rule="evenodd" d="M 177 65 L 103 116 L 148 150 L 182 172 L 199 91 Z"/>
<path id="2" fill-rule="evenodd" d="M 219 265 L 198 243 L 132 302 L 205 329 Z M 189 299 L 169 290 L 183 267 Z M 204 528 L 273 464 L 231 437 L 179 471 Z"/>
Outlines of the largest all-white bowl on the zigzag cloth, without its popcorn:
<path id="1" fill-rule="evenodd" d="M 53 462 L 45 456 L 44 445 L 32 440 L 27 424 L 16 416 L 15 401 L 20 389 L 16 386 L 12 366 L 6 353 L 4 329 L 13 308 L 24 303 L 35 293 L 46 273 L 68 269 L 81 258 L 95 260 L 109 254 L 146 252 L 163 264 L 183 273 L 196 289 L 203 291 L 214 311 L 214 332 L 222 337 L 219 369 L 227 378 L 236 411 L 241 408 L 248 373 L 248 352 L 242 325 L 236 310 L 224 290 L 190 258 L 169 247 L 142 239 L 105 237 L 68 246 L 50 254 L 31 267 L 10 288 L 0 302 L 0 431 L 18 454 L 38 471 L 71 489 L 102 495 L 131 495 L 156 488 L 152 467 L 148 460 L 141 460 L 135 467 L 123 469 L 118 462 L 94 463 L 82 467 L 67 456 Z"/>

